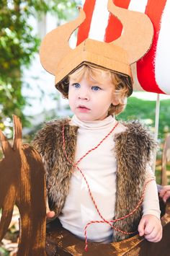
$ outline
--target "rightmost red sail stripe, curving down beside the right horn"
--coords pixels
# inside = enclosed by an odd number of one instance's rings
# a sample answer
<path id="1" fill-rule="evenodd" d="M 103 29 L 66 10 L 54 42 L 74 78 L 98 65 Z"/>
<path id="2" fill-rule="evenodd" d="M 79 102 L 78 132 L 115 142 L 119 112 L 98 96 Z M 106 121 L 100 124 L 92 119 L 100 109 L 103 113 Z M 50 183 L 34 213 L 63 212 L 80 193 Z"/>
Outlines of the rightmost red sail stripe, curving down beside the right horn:
<path id="1" fill-rule="evenodd" d="M 164 92 L 162 92 L 161 89 L 159 89 L 158 84 L 156 84 L 154 58 L 158 42 L 158 35 L 161 28 L 161 14 L 164 11 L 165 5 L 166 0 L 148 0 L 146 14 L 148 14 L 148 17 L 150 17 L 151 21 L 153 22 L 153 45 L 146 56 L 137 62 L 138 81 L 140 82 L 141 87 L 148 92 L 163 94 Z"/>

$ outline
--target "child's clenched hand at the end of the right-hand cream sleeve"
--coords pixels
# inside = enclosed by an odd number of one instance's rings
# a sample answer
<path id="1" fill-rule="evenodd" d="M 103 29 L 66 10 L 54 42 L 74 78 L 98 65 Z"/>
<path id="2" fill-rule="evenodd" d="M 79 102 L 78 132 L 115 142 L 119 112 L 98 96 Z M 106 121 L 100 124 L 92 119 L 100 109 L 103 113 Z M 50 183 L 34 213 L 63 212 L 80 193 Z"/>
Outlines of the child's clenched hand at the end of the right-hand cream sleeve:
<path id="1" fill-rule="evenodd" d="M 147 214 L 140 219 L 138 231 L 140 237 L 144 236 L 149 242 L 159 242 L 162 238 L 161 221 L 156 216 Z"/>

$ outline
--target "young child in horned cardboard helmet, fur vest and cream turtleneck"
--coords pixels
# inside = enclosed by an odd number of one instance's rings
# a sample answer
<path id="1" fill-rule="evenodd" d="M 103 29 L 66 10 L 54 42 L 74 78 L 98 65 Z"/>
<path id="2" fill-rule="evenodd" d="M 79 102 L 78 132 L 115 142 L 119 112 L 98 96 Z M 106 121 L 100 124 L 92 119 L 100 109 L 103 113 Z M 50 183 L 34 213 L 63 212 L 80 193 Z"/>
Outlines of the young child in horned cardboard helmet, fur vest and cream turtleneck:
<path id="1" fill-rule="evenodd" d="M 112 0 L 108 10 L 123 26 L 114 42 L 86 39 L 71 49 L 68 39 L 84 22 L 82 10 L 42 41 L 42 66 L 55 75 L 55 87 L 74 114 L 48 123 L 35 137 L 45 166 L 48 216 L 54 211 L 65 229 L 92 242 L 120 241 L 137 230 L 158 242 L 162 227 L 150 167 L 155 142 L 140 123 L 115 120 L 133 92 L 130 64 L 150 48 L 153 25 L 146 14 Z"/>

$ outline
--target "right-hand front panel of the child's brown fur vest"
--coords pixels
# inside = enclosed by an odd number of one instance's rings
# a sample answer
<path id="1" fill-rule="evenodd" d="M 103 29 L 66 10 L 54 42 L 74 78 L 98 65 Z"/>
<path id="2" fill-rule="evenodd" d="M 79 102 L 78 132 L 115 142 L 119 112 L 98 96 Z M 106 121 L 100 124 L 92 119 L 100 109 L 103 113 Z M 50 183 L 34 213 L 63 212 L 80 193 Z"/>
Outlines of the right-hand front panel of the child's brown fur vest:
<path id="1" fill-rule="evenodd" d="M 146 163 L 150 161 L 151 151 L 156 146 L 146 128 L 138 122 L 123 123 L 124 133 L 115 135 L 117 157 L 117 193 L 115 219 L 127 215 L 138 204 L 145 181 Z M 127 219 L 115 223 L 122 231 L 138 231 L 142 208 Z M 129 235 L 114 232 L 114 241 L 127 239 Z"/>

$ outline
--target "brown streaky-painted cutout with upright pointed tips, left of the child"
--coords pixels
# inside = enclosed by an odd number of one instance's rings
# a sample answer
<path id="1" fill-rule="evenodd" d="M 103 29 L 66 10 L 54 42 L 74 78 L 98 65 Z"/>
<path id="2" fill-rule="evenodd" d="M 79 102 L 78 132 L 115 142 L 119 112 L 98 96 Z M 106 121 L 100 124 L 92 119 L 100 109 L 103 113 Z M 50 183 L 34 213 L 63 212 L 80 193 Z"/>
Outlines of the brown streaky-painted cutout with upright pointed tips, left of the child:
<path id="1" fill-rule="evenodd" d="M 14 120 L 13 146 L 0 130 L 4 158 L 0 161 L 0 242 L 19 208 L 19 250 L 17 256 L 45 255 L 45 172 L 37 151 L 22 144 L 22 125 Z"/>

